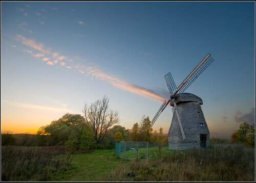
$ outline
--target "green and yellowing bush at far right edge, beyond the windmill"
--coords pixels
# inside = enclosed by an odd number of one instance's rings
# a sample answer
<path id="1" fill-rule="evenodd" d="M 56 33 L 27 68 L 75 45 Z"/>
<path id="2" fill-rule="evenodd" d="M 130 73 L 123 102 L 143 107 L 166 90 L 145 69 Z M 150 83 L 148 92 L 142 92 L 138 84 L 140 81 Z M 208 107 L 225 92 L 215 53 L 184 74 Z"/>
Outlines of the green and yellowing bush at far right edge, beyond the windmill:
<path id="1" fill-rule="evenodd" d="M 255 125 L 249 125 L 246 121 L 241 123 L 239 130 L 231 136 L 232 142 L 243 142 L 247 146 L 255 145 Z"/>

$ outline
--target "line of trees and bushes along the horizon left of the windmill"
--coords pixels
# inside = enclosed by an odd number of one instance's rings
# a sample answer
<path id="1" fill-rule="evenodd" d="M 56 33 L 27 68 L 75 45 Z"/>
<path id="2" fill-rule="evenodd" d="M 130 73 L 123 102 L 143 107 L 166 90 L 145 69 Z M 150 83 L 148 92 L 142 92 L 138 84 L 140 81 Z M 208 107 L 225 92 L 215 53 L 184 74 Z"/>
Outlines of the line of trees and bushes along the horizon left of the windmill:
<path id="1" fill-rule="evenodd" d="M 66 146 L 71 150 L 87 150 L 93 148 L 114 148 L 120 141 L 168 142 L 151 127 L 149 117 L 142 117 L 132 129 L 125 129 L 119 122 L 117 111 L 109 109 L 109 99 L 105 96 L 90 106 L 84 105 L 84 116 L 65 114 L 49 125 L 41 126 L 37 134 L 1 133 L 1 145 L 16 146 Z"/>

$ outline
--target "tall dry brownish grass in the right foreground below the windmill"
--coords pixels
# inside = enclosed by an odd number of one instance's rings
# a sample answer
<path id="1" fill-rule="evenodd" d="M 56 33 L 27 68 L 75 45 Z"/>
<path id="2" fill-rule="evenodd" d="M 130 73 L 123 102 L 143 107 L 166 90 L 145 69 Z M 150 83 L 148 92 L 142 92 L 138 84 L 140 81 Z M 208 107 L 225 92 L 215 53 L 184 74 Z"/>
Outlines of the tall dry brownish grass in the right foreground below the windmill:
<path id="1" fill-rule="evenodd" d="M 211 147 L 175 151 L 153 160 L 132 161 L 112 172 L 108 181 L 254 181 L 255 150 Z"/>

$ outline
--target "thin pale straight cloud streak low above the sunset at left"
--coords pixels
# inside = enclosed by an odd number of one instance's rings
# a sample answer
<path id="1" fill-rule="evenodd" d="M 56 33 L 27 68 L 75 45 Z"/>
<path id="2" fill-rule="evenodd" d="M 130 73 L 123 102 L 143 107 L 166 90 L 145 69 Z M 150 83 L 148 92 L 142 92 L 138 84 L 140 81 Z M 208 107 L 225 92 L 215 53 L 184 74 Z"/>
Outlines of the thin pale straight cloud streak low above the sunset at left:
<path id="1" fill-rule="evenodd" d="M 13 101 L 8 101 L 8 100 L 1 100 L 1 101 L 12 104 L 14 106 L 21 107 L 21 108 L 27 108 L 27 109 L 33 109 L 33 110 L 74 113 L 74 111 L 66 109 L 66 108 L 52 108 L 52 107 L 47 107 L 47 106 L 36 106 L 33 104 L 19 103 L 19 102 L 13 102 Z"/>

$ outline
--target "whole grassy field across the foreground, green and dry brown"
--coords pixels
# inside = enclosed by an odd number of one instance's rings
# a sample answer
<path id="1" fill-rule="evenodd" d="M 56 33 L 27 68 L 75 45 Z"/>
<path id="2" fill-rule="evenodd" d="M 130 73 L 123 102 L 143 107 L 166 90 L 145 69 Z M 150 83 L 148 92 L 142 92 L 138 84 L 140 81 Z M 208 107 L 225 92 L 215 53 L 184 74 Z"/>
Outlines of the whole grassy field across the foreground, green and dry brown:
<path id="1" fill-rule="evenodd" d="M 18 147 L 17 147 L 18 148 Z M 15 148 L 16 149 L 16 148 Z M 10 149 L 2 147 L 1 179 L 3 173 L 9 179 L 7 181 L 254 181 L 255 180 L 255 148 L 234 146 L 232 144 L 216 144 L 207 149 L 191 149 L 186 151 L 168 150 L 167 147 L 151 147 L 148 150 L 148 160 L 123 160 L 118 158 L 114 149 L 96 149 L 87 153 L 71 154 L 67 158 L 60 157 L 61 151 L 44 148 L 22 147 L 24 152 L 32 149 L 33 164 L 26 164 L 29 153 L 24 153 L 24 158 L 20 156 L 16 163 L 10 157 Z M 3 151 L 4 150 L 4 151 Z M 50 151 L 49 151 L 50 150 Z M 3 155 L 3 152 L 6 155 Z M 17 151 L 21 153 L 22 151 Z M 16 152 L 16 154 L 17 154 Z M 51 163 L 50 160 L 58 160 Z M 9 155 L 8 155 L 8 154 Z M 154 153 L 154 155 L 153 155 Z M 39 154 L 40 159 L 35 159 Z M 26 157 L 25 157 L 26 155 Z M 44 155 L 44 156 L 43 156 Z M 6 157 L 6 158 L 5 158 Z M 45 157 L 45 158 L 43 158 Z M 43 159 L 42 159 L 43 158 Z M 10 162 L 10 160 L 12 160 Z M 21 161 L 22 160 L 22 161 Z M 65 161 L 64 161 L 65 160 Z M 25 163 L 22 163 L 25 162 Z M 46 162 L 45 168 L 42 163 Z M 63 162 L 63 163 L 61 163 Z M 68 164 L 66 163 L 68 162 Z M 69 163 L 71 162 L 71 163 Z M 9 163 L 9 164 L 8 164 Z M 23 178 L 31 167 L 35 175 L 31 178 Z M 60 166 L 61 165 L 61 166 Z M 68 165 L 68 166 L 67 166 Z M 50 167 L 49 167 L 50 166 Z M 23 177 L 17 177 L 17 172 Z M 41 169 L 44 171 L 41 171 Z M 50 169 L 49 169 L 50 168 Z M 10 171 L 10 172 L 8 172 Z M 43 173 L 43 174 L 42 174 Z M 44 176 L 42 176 L 44 175 Z M 15 177 L 16 176 L 16 177 Z M 22 179 L 23 178 L 23 179 Z"/>

